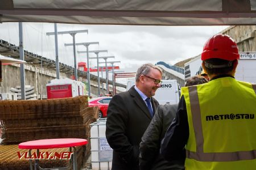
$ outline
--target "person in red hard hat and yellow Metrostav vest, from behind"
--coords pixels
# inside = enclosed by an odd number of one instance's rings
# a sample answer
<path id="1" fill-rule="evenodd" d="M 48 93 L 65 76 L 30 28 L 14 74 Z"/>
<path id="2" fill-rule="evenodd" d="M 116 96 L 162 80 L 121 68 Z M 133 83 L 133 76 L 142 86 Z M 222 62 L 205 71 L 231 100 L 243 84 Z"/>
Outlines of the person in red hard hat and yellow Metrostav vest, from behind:
<path id="1" fill-rule="evenodd" d="M 204 45 L 201 59 L 210 82 L 183 87 L 176 119 L 160 153 L 174 160 L 185 147 L 185 168 L 256 169 L 256 85 L 234 78 L 236 42 L 218 34 Z"/>

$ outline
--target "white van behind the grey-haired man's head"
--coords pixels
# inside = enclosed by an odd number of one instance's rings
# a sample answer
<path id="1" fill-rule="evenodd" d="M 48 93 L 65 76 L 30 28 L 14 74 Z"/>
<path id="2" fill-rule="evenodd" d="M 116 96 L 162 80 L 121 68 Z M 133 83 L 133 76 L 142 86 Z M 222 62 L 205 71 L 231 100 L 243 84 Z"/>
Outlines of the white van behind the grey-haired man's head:
<path id="1" fill-rule="evenodd" d="M 162 80 L 161 87 L 155 92 L 154 98 L 159 104 L 177 104 L 180 99 L 180 84 L 177 80 Z M 126 90 L 135 85 L 135 79 L 128 80 Z"/>

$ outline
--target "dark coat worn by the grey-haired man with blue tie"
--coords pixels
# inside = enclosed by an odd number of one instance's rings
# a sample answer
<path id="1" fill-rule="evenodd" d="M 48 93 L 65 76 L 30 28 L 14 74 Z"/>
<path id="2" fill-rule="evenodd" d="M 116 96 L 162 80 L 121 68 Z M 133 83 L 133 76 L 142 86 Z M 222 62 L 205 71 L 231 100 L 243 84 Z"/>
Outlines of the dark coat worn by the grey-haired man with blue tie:
<path id="1" fill-rule="evenodd" d="M 151 101 L 153 111 L 159 103 Z M 135 90 L 115 95 L 109 103 L 106 138 L 113 148 L 112 170 L 139 169 L 139 143 L 151 116 L 146 103 Z"/>

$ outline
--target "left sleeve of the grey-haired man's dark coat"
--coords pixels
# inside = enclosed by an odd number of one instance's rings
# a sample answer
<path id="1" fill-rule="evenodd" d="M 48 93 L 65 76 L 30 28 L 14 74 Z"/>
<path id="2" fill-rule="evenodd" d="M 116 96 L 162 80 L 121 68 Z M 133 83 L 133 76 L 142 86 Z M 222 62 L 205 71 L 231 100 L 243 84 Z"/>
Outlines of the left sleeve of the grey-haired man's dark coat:
<path id="1" fill-rule="evenodd" d="M 139 148 L 131 145 L 127 139 L 126 127 L 129 119 L 125 101 L 115 95 L 109 103 L 108 118 L 106 121 L 106 139 L 115 152 L 125 163 L 138 162 Z"/>

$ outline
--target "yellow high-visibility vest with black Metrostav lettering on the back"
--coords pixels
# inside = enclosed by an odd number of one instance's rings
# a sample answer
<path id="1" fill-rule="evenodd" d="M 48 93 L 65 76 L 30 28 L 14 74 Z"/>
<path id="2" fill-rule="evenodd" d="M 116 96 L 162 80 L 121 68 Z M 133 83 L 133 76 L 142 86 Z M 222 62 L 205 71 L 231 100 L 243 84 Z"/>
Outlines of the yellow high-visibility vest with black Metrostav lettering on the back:
<path id="1" fill-rule="evenodd" d="M 224 77 L 183 87 L 189 124 L 185 168 L 256 169 L 256 85 Z"/>

